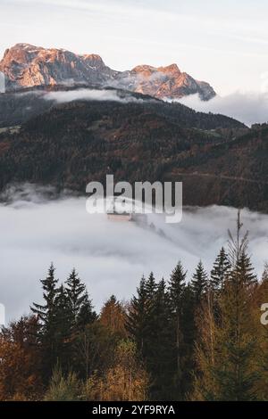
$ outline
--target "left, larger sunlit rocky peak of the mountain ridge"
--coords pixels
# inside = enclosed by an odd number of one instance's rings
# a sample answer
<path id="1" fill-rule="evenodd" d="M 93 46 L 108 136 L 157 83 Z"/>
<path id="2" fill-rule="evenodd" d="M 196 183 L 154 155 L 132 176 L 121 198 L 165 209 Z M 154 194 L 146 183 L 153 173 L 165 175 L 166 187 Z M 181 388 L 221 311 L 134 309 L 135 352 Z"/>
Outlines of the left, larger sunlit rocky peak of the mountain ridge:
<path id="1" fill-rule="evenodd" d="M 20 87 L 95 83 L 102 84 L 117 74 L 96 54 L 77 55 L 65 50 L 17 44 L 0 62 L 7 90 Z"/>

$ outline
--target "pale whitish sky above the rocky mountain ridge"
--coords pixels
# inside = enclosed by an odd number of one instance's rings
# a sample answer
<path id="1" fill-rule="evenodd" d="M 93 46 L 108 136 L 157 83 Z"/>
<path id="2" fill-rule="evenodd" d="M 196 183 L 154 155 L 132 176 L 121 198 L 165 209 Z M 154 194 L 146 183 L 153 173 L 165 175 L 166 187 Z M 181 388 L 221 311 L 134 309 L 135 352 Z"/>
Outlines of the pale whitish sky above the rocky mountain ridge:
<path id="1" fill-rule="evenodd" d="M 1 56 L 29 43 L 99 53 L 115 70 L 176 62 L 219 94 L 268 78 L 267 0 L 0 0 L 0 16 Z"/>

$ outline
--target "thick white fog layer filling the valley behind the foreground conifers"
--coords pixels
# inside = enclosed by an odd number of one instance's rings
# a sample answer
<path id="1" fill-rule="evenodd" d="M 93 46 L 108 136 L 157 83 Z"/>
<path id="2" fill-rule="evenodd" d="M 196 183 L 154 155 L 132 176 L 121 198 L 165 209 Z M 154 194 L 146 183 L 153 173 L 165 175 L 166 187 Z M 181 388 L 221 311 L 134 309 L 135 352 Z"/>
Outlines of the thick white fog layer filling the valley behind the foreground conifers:
<path id="1" fill-rule="evenodd" d="M 72 267 L 78 269 L 96 308 L 112 293 L 129 299 L 141 275 L 151 270 L 157 279 L 168 279 L 178 259 L 188 277 L 200 258 L 210 269 L 237 215 L 236 209 L 224 207 L 185 209 L 179 225 L 167 225 L 162 216 L 153 215 L 147 225 L 139 226 L 89 215 L 85 198 L 46 201 L 43 193 L 32 195 L 29 189 L 0 206 L 0 302 L 8 319 L 28 313 L 32 301 L 41 302 L 38 280 L 52 261 L 61 281 Z M 245 209 L 242 218 L 261 275 L 268 258 L 268 216 Z"/>

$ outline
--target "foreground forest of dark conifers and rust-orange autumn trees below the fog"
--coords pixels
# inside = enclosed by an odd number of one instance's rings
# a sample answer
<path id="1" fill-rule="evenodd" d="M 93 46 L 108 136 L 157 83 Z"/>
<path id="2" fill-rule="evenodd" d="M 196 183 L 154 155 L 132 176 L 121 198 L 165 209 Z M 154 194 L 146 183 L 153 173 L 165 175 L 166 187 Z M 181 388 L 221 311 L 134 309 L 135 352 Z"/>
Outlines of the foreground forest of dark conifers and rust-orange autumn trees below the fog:
<path id="1" fill-rule="evenodd" d="M 241 226 L 210 272 L 179 260 L 98 313 L 76 269 L 61 282 L 52 264 L 41 303 L 0 334 L 0 399 L 268 400 L 268 267 L 255 276 Z"/>

